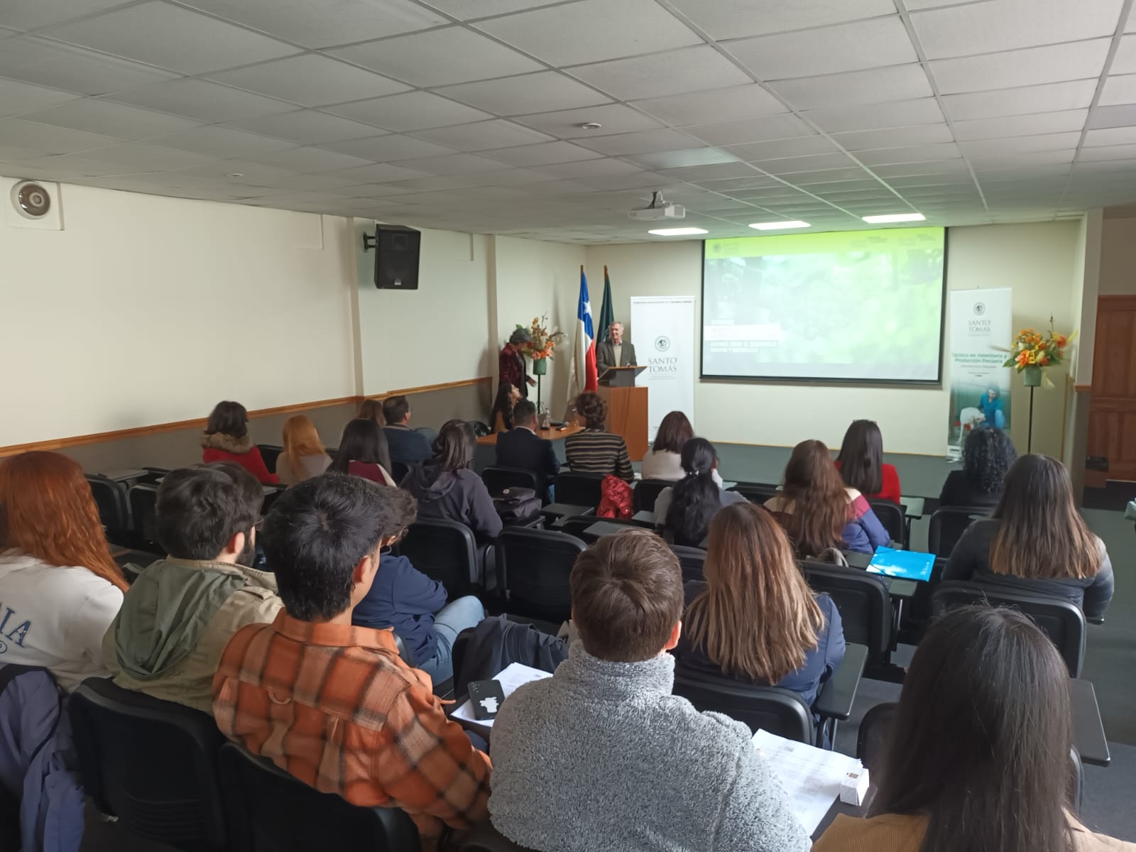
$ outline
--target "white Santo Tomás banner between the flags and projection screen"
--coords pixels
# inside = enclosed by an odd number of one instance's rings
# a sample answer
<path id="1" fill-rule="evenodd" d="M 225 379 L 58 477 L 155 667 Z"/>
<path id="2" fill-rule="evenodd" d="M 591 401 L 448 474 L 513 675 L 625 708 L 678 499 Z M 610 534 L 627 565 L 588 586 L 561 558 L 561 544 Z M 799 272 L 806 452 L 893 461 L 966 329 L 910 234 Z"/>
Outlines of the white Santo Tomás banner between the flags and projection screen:
<path id="1" fill-rule="evenodd" d="M 632 343 L 648 389 L 648 440 L 669 411 L 694 420 L 694 296 L 632 298 Z"/>

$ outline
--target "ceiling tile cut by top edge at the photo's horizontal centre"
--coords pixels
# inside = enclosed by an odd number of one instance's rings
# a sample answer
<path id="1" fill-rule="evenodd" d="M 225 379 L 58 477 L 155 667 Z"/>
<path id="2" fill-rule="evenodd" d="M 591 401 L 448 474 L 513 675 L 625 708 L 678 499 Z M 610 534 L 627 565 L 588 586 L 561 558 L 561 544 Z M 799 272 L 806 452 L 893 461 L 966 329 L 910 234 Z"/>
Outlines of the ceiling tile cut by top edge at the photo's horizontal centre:
<path id="1" fill-rule="evenodd" d="M 598 26 L 599 22 L 602 25 Z M 556 66 L 702 43 L 654 0 L 579 0 L 492 18 L 477 26 Z"/>

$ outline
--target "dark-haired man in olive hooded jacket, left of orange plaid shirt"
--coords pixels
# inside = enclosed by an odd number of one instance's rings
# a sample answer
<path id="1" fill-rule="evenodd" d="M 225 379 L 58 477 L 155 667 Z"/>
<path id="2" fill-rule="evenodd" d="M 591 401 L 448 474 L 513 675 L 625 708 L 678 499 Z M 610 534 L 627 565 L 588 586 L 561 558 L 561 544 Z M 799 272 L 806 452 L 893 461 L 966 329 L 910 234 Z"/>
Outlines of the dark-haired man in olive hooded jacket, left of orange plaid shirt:
<path id="1" fill-rule="evenodd" d="M 225 643 L 281 609 L 276 580 L 252 565 L 264 494 L 244 468 L 202 465 L 158 486 L 158 541 L 169 554 L 126 592 L 102 642 L 115 683 L 211 712 Z"/>

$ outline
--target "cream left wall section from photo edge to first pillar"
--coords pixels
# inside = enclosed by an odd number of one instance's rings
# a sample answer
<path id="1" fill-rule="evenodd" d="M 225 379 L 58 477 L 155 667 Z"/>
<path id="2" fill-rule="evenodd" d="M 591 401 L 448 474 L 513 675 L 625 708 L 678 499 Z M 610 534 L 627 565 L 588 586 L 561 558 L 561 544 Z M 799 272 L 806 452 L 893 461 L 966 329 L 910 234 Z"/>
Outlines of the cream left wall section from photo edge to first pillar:
<path id="1" fill-rule="evenodd" d="M 353 393 L 348 219 L 60 194 L 0 223 L 0 446 Z"/>

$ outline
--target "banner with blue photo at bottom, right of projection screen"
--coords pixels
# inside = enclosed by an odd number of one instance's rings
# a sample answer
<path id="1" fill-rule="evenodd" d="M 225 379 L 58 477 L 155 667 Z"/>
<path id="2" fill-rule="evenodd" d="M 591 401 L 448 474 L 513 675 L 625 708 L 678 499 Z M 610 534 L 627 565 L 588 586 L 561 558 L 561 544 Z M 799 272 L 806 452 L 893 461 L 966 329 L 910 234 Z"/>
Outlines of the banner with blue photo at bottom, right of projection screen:
<path id="1" fill-rule="evenodd" d="M 951 461 L 962 456 L 971 431 L 1010 428 L 1010 368 L 1002 364 L 1013 337 L 1011 293 L 1009 287 L 951 291 Z"/>

